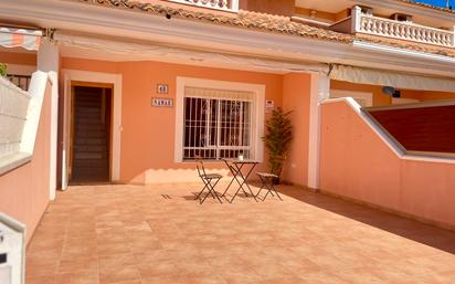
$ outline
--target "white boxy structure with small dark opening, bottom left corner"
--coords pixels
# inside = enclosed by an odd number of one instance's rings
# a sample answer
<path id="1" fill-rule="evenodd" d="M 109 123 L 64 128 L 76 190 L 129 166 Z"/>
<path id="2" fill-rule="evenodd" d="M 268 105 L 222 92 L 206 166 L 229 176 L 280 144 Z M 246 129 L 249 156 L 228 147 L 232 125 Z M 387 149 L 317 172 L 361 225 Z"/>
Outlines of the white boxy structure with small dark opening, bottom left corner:
<path id="1" fill-rule="evenodd" d="M 0 283 L 25 283 L 25 225 L 0 213 Z"/>

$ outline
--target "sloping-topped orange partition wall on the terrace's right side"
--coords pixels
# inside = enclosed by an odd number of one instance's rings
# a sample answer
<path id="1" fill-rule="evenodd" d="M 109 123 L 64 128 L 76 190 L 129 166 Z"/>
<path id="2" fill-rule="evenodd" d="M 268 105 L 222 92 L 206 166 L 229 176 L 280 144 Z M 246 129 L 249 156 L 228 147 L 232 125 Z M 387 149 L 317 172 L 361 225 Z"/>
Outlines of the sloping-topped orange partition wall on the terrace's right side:
<path id="1" fill-rule="evenodd" d="M 455 164 L 400 159 L 346 103 L 321 111 L 320 189 L 455 225 Z"/>

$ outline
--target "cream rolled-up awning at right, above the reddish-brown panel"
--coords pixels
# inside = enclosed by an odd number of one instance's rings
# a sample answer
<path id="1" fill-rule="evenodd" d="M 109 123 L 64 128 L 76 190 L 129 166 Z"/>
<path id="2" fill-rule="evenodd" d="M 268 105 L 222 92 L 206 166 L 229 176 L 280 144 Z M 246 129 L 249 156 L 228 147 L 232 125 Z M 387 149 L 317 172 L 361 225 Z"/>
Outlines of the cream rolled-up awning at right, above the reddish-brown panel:
<path id="1" fill-rule="evenodd" d="M 332 65 L 330 78 L 356 84 L 391 86 L 394 88 L 455 92 L 455 78 L 422 76 L 346 65 Z"/>

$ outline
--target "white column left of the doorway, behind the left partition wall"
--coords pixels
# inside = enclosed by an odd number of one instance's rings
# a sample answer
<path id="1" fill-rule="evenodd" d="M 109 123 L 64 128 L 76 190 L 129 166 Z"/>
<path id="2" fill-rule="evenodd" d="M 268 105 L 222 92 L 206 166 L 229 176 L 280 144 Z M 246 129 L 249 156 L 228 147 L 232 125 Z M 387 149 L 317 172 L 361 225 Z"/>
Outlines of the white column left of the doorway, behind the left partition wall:
<path id="1" fill-rule="evenodd" d="M 56 157 L 57 157 L 57 125 L 59 125 L 59 46 L 44 40 L 38 51 L 38 70 L 47 72 L 52 81 L 51 101 L 51 165 L 50 165 L 50 198 L 55 199 L 56 190 Z"/>

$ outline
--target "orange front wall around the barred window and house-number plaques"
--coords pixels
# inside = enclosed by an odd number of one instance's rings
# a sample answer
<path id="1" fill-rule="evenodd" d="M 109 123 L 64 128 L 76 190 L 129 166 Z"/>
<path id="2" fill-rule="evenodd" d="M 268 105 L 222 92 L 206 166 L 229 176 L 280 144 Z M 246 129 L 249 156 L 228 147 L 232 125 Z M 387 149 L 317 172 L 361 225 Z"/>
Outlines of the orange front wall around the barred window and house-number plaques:
<path id="1" fill-rule="evenodd" d="M 126 182 L 194 181 L 194 164 L 173 161 L 176 107 L 150 106 L 154 96 L 176 98 L 177 76 L 263 84 L 266 99 L 282 106 L 282 75 L 160 62 L 114 63 L 71 57 L 62 59 L 62 69 L 123 75 L 120 179 Z M 159 83 L 169 85 L 169 94 L 156 93 Z M 226 169 L 220 162 L 209 167 L 223 172 Z M 265 169 L 265 165 L 257 167 L 257 170 Z"/>

